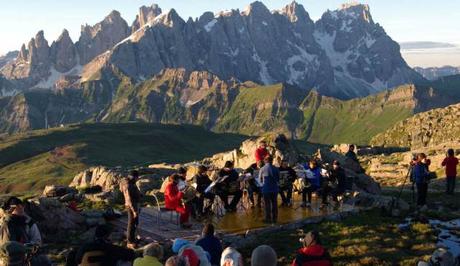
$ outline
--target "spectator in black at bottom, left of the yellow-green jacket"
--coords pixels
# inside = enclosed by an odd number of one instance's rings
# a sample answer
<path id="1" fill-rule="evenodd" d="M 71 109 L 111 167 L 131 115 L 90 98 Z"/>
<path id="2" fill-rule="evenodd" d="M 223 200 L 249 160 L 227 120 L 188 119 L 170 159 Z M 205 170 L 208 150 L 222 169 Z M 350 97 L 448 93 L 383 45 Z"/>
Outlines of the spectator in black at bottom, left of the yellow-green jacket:
<path id="1" fill-rule="evenodd" d="M 110 242 L 111 234 L 112 227 L 110 225 L 96 227 L 94 240 L 78 249 L 75 256 L 76 265 L 82 265 L 82 262 L 87 260 L 99 263 L 101 266 L 117 265 L 119 261 L 132 262 L 135 259 L 134 251 L 112 244 Z"/>

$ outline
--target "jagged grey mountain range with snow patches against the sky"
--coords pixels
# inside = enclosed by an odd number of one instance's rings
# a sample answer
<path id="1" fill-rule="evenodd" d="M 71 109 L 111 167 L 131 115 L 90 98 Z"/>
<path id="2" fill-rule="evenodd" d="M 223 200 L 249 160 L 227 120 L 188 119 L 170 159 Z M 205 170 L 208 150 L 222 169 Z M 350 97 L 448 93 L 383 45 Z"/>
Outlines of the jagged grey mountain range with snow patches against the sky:
<path id="1" fill-rule="evenodd" d="M 75 44 L 64 31 L 49 47 L 40 32 L 1 73 L 21 81 L 20 89 L 49 88 L 62 75 L 81 75 L 85 82 L 105 68 L 136 82 L 165 68 L 209 71 L 343 99 L 421 79 L 367 5 L 328 11 L 315 23 L 296 2 L 274 11 L 254 2 L 242 12 L 208 12 L 187 21 L 175 10 L 143 6 L 131 27 L 113 11 L 94 26 L 82 26 Z"/>

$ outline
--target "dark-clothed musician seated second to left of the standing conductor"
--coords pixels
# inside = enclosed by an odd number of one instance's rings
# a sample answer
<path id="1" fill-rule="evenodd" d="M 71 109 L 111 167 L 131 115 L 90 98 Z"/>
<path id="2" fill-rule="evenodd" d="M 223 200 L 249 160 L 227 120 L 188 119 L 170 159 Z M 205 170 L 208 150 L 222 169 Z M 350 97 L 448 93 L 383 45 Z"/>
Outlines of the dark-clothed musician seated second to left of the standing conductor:
<path id="1" fill-rule="evenodd" d="M 216 186 L 216 194 L 224 202 L 224 207 L 227 211 L 235 212 L 236 206 L 243 196 L 243 192 L 240 188 L 238 173 L 233 168 L 233 162 L 225 162 L 224 168 L 218 173 L 218 178 L 223 179 L 223 181 Z M 233 199 L 230 204 L 228 203 L 229 195 L 233 195 Z"/>

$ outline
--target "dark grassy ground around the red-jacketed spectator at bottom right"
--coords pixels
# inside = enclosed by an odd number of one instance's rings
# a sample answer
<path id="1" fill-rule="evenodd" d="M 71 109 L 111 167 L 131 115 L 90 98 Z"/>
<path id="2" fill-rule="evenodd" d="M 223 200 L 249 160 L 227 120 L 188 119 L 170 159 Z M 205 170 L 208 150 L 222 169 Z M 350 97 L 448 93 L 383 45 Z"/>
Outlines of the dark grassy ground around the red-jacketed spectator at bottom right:
<path id="1" fill-rule="evenodd" d="M 270 245 L 277 251 L 279 265 L 290 265 L 295 251 L 300 248 L 298 239 L 315 229 L 321 232 L 334 265 L 415 265 L 431 255 L 436 237 L 429 225 L 421 223 L 401 232 L 398 225 L 402 222 L 402 219 L 382 217 L 379 211 L 371 211 L 340 222 L 323 222 L 301 230 L 261 235 L 254 242 Z M 250 258 L 255 247 L 242 250 L 244 257 Z"/>

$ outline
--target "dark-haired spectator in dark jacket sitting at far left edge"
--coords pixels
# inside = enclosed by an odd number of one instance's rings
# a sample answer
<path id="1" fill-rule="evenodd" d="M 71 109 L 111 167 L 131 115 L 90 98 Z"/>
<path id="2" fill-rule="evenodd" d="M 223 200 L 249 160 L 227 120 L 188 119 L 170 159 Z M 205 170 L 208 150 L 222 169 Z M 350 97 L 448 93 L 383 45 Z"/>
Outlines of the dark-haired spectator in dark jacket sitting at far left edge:
<path id="1" fill-rule="evenodd" d="M 10 197 L 5 202 L 3 209 L 6 215 L 1 226 L 0 244 L 8 241 L 38 246 L 42 244 L 40 230 L 24 208 L 24 202 L 17 197 Z"/>

